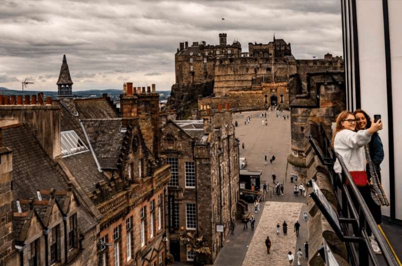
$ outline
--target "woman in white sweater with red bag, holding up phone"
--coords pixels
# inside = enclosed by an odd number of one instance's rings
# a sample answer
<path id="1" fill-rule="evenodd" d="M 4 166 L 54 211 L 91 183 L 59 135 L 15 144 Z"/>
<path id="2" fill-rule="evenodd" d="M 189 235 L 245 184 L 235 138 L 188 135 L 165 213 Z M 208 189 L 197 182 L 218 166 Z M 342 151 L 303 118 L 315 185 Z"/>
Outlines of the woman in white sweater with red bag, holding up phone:
<path id="1" fill-rule="evenodd" d="M 356 116 L 350 111 L 341 112 L 336 119 L 335 132 L 332 137 L 332 145 L 336 153 L 338 153 L 349 170 L 354 183 L 362 194 L 368 208 L 374 217 L 380 216 L 378 206 L 371 198 L 371 190 L 366 173 L 366 157 L 364 146 L 369 144 L 371 137 L 382 129 L 382 122 L 372 122 L 367 129 L 356 131 Z M 366 126 L 367 127 L 367 126 Z M 334 164 L 334 171 L 342 173 L 342 168 L 338 160 Z M 351 193 L 353 195 L 353 193 Z M 374 206 L 375 205 L 375 206 Z M 355 203 L 355 206 L 358 206 Z M 367 227 L 367 234 L 371 235 L 371 230 Z M 380 252 L 375 239 L 371 240 L 371 244 L 376 253 Z"/>

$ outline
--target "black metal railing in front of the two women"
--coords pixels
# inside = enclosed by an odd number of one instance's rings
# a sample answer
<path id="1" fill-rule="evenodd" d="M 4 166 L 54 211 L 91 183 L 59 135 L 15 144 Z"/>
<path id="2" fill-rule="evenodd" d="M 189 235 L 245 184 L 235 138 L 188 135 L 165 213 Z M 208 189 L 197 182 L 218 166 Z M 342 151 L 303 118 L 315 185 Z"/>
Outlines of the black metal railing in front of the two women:
<path id="1" fill-rule="evenodd" d="M 383 265 L 383 263 L 389 266 L 398 266 L 391 248 L 378 229 L 377 223 L 359 189 L 353 182 L 352 176 L 346 168 L 342 157 L 332 150 L 331 139 L 322 124 L 320 129 L 320 143 L 313 139 L 312 136 L 309 136 L 308 139 L 321 163 L 328 168 L 338 202 L 338 216 L 342 228 L 341 235 L 338 235 L 338 237 L 346 242 L 349 262 L 351 265 L 361 266 L 379 266 Z M 333 170 L 335 159 L 338 159 L 342 167 L 342 174 L 336 174 Z M 352 196 L 355 200 L 352 200 Z M 367 234 L 367 227 L 371 229 L 372 234 L 377 240 L 379 248 L 382 251 L 381 255 L 374 253 Z M 369 263 L 369 260 L 371 263 Z"/>

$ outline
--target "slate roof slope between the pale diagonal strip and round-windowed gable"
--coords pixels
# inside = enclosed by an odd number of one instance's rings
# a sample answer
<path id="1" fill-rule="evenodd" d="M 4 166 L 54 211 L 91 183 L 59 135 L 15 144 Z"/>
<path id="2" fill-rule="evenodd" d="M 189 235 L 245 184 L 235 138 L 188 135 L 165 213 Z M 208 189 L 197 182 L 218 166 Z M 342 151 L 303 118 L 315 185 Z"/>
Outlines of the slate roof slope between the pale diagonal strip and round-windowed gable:
<path id="1" fill-rule="evenodd" d="M 122 120 L 82 121 L 86 135 L 102 169 L 117 169 L 123 138 Z"/>

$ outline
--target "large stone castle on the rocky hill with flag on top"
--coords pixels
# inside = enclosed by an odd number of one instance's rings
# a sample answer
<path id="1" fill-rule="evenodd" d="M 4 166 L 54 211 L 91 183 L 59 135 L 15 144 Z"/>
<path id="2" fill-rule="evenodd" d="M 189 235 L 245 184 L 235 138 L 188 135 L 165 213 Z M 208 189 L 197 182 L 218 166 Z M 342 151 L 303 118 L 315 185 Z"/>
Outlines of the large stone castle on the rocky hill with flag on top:
<path id="1" fill-rule="evenodd" d="M 287 82 L 291 74 L 343 70 L 342 57 L 326 54 L 323 59 L 297 60 L 290 43 L 276 39 L 268 44 L 227 44 L 227 34 L 219 34 L 219 45 L 205 41 L 180 43 L 175 54 L 176 83 L 168 105 L 179 117 L 200 106 L 217 108 L 230 103 L 233 110 L 289 106 Z M 305 82 L 305 81 L 304 81 Z M 199 108 L 198 108 L 199 109 Z"/>

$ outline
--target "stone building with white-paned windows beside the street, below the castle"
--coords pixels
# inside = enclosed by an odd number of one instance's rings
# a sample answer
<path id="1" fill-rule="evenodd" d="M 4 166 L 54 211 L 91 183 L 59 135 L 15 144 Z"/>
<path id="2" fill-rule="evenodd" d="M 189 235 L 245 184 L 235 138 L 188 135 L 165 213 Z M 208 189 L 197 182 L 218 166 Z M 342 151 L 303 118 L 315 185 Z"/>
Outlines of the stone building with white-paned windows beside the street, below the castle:
<path id="1" fill-rule="evenodd" d="M 239 200 L 239 150 L 232 110 L 204 110 L 202 120 L 168 120 L 161 129 L 161 154 L 171 165 L 168 184 L 170 253 L 192 261 L 180 231 L 207 240 L 213 263 L 229 233 Z M 217 228 L 223 231 L 218 232 Z"/>

